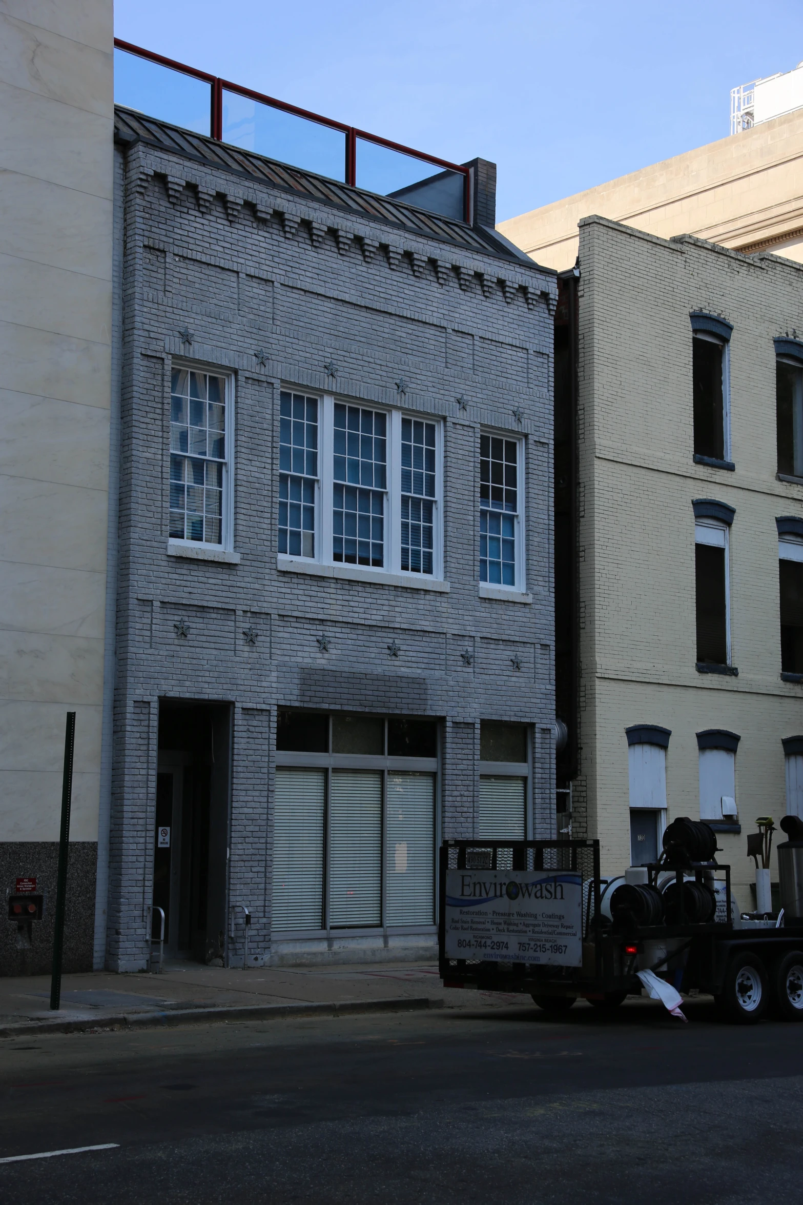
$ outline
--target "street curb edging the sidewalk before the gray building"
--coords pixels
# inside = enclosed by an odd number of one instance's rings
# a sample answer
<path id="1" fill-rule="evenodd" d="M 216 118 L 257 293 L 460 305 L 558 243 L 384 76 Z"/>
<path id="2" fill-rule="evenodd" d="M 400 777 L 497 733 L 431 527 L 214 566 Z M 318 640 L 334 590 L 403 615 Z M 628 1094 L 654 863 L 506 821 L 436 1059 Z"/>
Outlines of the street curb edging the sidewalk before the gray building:
<path id="1" fill-rule="evenodd" d="M 81 1017 L 76 1021 L 20 1021 L 0 1025 L 0 1038 L 30 1034 L 82 1034 L 98 1029 L 159 1029 L 173 1025 L 208 1024 L 222 1021 L 281 1021 L 283 1017 L 348 1016 L 360 1012 L 414 1012 L 442 1009 L 443 1000 L 429 997 L 396 997 L 390 1000 L 343 1000 L 325 1004 L 248 1004 L 211 1009 L 170 1009 L 159 1012 L 122 1012 L 113 1016 Z"/>

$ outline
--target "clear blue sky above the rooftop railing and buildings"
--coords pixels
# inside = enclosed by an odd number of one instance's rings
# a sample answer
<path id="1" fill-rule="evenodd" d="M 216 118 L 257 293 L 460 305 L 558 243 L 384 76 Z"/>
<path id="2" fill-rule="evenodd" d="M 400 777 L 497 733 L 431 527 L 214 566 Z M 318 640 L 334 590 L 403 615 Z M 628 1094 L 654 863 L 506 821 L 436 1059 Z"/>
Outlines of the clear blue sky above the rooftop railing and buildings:
<path id="1" fill-rule="evenodd" d="M 462 163 L 497 219 L 728 134 L 730 90 L 803 59 L 801 0 L 117 0 L 118 37 Z"/>

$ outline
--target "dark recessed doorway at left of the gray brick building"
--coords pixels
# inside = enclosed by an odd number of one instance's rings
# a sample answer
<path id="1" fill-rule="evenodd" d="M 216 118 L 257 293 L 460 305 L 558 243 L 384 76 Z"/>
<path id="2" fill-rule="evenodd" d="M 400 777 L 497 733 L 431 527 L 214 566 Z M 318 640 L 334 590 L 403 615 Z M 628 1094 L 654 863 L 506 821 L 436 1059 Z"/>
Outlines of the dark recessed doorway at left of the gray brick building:
<path id="1" fill-rule="evenodd" d="M 160 701 L 152 936 L 161 907 L 173 958 L 225 962 L 230 751 L 229 704 Z"/>

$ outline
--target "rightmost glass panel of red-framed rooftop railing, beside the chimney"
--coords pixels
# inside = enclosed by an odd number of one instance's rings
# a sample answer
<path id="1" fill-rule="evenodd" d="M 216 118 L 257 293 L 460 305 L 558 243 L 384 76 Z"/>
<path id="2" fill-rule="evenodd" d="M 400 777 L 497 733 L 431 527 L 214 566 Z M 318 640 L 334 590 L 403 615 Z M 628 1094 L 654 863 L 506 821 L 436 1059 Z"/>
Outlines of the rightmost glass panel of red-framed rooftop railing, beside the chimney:
<path id="1" fill-rule="evenodd" d="M 464 219 L 465 176 L 460 171 L 441 170 L 425 159 L 417 159 L 391 147 L 356 140 L 356 187 L 379 193 L 445 218 Z"/>

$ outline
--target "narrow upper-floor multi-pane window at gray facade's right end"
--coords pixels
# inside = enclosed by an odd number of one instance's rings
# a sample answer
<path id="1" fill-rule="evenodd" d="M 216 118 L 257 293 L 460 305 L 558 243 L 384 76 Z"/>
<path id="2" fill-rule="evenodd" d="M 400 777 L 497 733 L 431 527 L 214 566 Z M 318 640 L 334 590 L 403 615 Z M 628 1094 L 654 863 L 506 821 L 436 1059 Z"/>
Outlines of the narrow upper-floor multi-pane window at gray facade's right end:
<path id="1" fill-rule="evenodd" d="M 479 580 L 522 589 L 522 442 L 502 435 L 479 440 Z"/>

